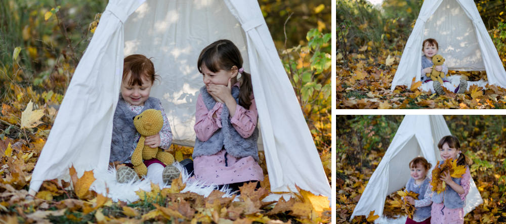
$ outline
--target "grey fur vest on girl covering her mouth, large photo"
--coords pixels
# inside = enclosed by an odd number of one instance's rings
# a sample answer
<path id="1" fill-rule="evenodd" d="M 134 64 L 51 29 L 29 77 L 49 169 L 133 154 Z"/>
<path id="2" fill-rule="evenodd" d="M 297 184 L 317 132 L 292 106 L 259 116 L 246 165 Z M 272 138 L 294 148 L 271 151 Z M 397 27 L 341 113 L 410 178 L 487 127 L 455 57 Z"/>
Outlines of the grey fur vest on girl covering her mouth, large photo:
<path id="1" fill-rule="evenodd" d="M 205 86 L 200 88 L 200 94 L 202 94 L 202 100 L 204 101 L 207 110 L 213 109 L 216 101 L 207 93 Z M 232 86 L 232 97 L 234 97 L 236 102 L 239 101 L 239 87 Z M 258 162 L 258 127 L 255 127 L 255 130 L 250 137 L 244 139 L 230 123 L 229 115 L 230 112 L 227 106 L 223 104 L 223 110 L 220 115 L 222 127 L 215 131 L 213 136 L 205 142 L 201 142 L 198 138 L 195 139 L 195 148 L 193 149 L 192 155 L 193 158 L 197 156 L 214 155 L 222 150 L 222 148 L 225 148 L 227 153 L 233 157 L 243 158 L 252 156 Z"/>

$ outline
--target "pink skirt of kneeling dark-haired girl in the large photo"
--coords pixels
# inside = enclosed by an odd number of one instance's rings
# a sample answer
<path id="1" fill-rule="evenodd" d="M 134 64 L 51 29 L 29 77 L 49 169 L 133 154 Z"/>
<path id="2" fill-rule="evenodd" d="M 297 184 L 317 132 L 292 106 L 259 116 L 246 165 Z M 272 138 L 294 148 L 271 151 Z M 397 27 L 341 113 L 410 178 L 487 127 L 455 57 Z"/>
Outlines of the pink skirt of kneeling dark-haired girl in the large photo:
<path id="1" fill-rule="evenodd" d="M 193 160 L 195 178 L 206 184 L 225 185 L 245 181 L 263 181 L 264 172 L 251 156 L 235 158 L 225 149 Z"/>

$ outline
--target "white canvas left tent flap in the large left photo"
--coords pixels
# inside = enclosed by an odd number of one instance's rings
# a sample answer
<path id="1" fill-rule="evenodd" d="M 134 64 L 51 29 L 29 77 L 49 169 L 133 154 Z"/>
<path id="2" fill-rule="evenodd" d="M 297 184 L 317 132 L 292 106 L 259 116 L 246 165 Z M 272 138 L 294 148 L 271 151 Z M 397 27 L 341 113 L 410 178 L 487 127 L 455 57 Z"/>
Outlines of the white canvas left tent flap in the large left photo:
<path id="1" fill-rule="evenodd" d="M 110 0 L 85 54 L 67 88 L 48 141 L 35 164 L 30 192 L 47 179 L 68 173 L 72 164 L 78 175 L 85 170 L 106 169 L 112 116 L 119 94 L 123 64 L 123 26 L 143 1 Z M 113 13 L 114 12 L 114 13 Z M 116 96 L 116 100 L 112 97 Z"/>

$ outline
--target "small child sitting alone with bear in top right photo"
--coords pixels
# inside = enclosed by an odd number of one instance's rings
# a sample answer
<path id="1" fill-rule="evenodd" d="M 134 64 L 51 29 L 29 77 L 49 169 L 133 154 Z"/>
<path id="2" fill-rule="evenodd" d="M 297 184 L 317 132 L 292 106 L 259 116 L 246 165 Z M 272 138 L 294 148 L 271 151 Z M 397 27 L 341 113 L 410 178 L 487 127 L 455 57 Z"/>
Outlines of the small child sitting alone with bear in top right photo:
<path id="1" fill-rule="evenodd" d="M 432 62 L 432 57 L 438 54 L 439 50 L 438 41 L 433 38 L 429 38 L 424 40 L 422 45 L 423 48 L 421 51 L 424 52 L 425 57 L 421 56 L 422 69 L 420 81 L 422 83 L 427 82 L 427 84 L 429 84 L 429 88 L 431 89 L 432 93 L 436 92 L 439 95 L 444 95 L 445 93 L 441 83 L 439 81 L 433 81 L 429 77 L 427 77 L 427 73 L 431 73 L 433 69 L 432 66 L 434 65 L 434 63 Z M 444 63 L 443 65 L 437 65 L 435 69 L 436 71 L 443 71 L 445 75 L 448 74 L 448 67 Z M 466 89 L 468 87 L 468 83 L 465 79 L 460 79 L 460 83 L 458 86 L 454 86 L 453 84 L 451 84 L 450 81 L 446 79 L 446 77 L 443 78 L 443 83 L 446 89 L 457 94 L 463 94 L 464 92 L 466 92 Z"/>

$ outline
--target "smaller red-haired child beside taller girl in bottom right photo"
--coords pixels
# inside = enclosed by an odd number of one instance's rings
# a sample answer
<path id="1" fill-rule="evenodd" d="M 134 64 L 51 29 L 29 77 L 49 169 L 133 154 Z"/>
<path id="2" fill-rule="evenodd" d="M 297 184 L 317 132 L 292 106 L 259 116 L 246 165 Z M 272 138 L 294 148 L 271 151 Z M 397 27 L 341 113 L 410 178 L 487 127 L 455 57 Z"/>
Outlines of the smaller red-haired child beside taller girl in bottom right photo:
<path id="1" fill-rule="evenodd" d="M 408 183 L 406 183 L 406 191 L 412 191 L 418 194 L 418 200 L 424 199 L 427 187 L 430 186 L 430 179 L 427 177 L 427 172 L 431 167 L 432 165 L 428 163 L 424 157 L 416 157 L 409 162 L 411 177 L 409 177 Z M 407 196 L 406 200 L 412 201 L 413 198 Z M 406 223 L 431 223 L 431 206 L 416 207 L 413 213 L 413 219 L 408 217 Z"/>

